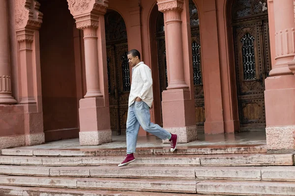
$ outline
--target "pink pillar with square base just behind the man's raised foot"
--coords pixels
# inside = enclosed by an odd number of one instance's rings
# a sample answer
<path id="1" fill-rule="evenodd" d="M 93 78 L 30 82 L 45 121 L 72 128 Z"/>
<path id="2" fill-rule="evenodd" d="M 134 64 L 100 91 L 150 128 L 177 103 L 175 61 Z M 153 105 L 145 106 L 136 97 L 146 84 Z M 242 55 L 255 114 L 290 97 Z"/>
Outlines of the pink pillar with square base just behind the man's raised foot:
<path id="1" fill-rule="evenodd" d="M 162 94 L 163 127 L 178 134 L 179 143 L 197 140 L 192 74 L 188 73 L 187 80 L 184 77 L 190 63 L 183 53 L 188 53 L 191 45 L 186 35 L 187 3 L 188 0 L 158 0 L 158 9 L 164 13 L 168 71 L 168 87 Z"/>

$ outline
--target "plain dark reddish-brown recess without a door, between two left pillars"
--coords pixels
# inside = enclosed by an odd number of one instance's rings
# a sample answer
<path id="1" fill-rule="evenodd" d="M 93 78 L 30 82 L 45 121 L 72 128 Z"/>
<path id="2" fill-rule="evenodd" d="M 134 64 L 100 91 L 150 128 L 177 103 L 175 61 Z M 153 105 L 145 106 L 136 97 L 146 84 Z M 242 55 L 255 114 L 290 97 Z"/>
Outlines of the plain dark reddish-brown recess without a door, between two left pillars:
<path id="1" fill-rule="evenodd" d="M 66 0 L 39 0 L 43 124 L 46 142 L 78 138 L 75 21 Z"/>

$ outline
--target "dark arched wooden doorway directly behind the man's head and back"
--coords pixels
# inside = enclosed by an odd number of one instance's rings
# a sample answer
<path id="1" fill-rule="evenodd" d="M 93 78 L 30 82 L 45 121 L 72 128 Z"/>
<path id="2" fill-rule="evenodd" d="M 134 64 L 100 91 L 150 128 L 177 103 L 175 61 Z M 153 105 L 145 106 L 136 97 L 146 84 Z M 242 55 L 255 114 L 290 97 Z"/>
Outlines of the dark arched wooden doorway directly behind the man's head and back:
<path id="1" fill-rule="evenodd" d="M 118 12 L 107 11 L 105 31 L 111 129 L 114 134 L 120 135 L 126 130 L 131 84 L 126 25 Z"/>

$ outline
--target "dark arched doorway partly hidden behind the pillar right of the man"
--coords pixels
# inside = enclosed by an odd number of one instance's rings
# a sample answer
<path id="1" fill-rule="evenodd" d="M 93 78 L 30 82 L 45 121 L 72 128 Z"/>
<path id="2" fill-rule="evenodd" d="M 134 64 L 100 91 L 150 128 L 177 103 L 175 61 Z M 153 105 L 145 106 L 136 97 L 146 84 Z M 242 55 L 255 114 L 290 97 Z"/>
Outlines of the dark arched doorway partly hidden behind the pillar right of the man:
<path id="1" fill-rule="evenodd" d="M 189 0 L 189 14 L 191 25 L 191 47 L 192 47 L 192 61 L 193 61 L 193 78 L 194 78 L 194 92 L 195 92 L 195 113 L 196 113 L 196 125 L 198 129 L 204 129 L 205 122 L 205 100 L 202 78 L 202 66 L 201 66 L 201 39 L 200 39 L 200 27 L 199 27 L 199 14 L 195 3 Z M 164 14 L 158 11 L 158 7 L 155 5 L 150 17 L 150 35 L 151 35 L 151 55 L 152 63 L 156 64 L 157 60 L 157 72 L 158 76 L 154 78 L 159 79 L 159 96 L 162 101 L 162 92 L 166 90 L 168 86 L 167 75 L 167 61 L 166 61 L 166 46 L 165 46 L 165 25 Z M 155 59 L 155 56 L 157 59 Z M 156 104 L 156 103 L 155 103 Z M 159 108 L 160 108 L 160 104 Z M 161 113 L 161 110 L 160 110 Z M 156 111 L 157 114 L 157 111 Z M 158 120 L 158 124 L 162 124 Z"/>

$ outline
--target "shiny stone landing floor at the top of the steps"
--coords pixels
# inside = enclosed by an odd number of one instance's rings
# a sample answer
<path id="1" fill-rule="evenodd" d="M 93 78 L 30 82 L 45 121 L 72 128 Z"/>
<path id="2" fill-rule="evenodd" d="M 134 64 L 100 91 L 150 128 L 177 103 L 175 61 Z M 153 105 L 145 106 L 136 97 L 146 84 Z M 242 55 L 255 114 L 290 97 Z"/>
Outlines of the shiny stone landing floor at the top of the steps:
<path id="1" fill-rule="evenodd" d="M 235 134 L 205 135 L 198 134 L 198 140 L 187 144 L 178 144 L 178 147 L 208 147 L 208 146 L 226 146 L 226 145 L 265 145 L 265 132 L 242 132 Z M 163 144 L 162 140 L 155 136 L 139 137 L 137 147 L 169 147 L 170 144 Z M 113 142 L 99 146 L 80 146 L 79 138 L 49 142 L 42 145 L 18 148 L 39 148 L 39 149 L 89 149 L 89 148 L 125 148 L 126 136 L 113 136 Z"/>

